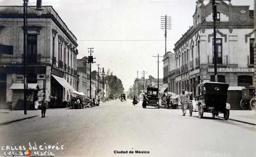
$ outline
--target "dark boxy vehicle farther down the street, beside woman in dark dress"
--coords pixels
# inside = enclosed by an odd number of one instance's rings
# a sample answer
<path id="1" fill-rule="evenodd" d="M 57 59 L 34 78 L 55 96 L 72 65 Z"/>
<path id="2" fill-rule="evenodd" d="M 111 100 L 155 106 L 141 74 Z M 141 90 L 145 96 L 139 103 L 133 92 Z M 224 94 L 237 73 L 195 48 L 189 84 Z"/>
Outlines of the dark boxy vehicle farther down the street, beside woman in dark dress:
<path id="1" fill-rule="evenodd" d="M 148 104 L 147 106 L 158 106 L 158 109 L 160 108 L 160 105 L 157 104 L 158 102 L 158 88 L 154 87 L 148 87 L 147 88 L 147 98 L 148 98 Z"/>

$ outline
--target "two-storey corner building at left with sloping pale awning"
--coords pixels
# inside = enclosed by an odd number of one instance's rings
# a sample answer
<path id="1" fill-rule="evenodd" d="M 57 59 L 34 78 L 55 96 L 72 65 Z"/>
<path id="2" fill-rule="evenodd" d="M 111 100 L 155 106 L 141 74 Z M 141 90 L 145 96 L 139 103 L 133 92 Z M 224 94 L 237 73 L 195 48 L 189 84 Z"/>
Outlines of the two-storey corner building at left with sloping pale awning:
<path id="1" fill-rule="evenodd" d="M 67 100 L 78 83 L 77 39 L 52 6 L 43 6 L 40 18 L 34 9 L 28 8 L 28 83 L 44 88 L 38 96 L 45 94 L 48 101 L 51 95 L 57 97 L 57 102 Z M 22 10 L 23 6 L 0 6 L 1 44 L 13 46 L 13 54 L 0 54 L 2 102 L 12 101 L 9 88 L 13 83 L 23 83 Z M 65 81 L 66 88 L 60 81 Z"/>

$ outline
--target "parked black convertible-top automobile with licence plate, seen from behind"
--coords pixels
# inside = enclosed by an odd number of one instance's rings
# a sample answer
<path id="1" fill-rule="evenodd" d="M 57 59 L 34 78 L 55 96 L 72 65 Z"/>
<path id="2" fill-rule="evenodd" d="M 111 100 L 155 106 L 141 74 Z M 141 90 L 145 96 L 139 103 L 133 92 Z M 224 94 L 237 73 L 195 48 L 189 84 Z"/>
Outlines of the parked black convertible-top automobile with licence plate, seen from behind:
<path id="1" fill-rule="evenodd" d="M 189 102 L 189 115 L 192 112 L 198 112 L 198 117 L 203 118 L 204 112 L 212 113 L 212 117 L 224 113 L 224 119 L 228 120 L 230 104 L 227 101 L 227 83 L 220 82 L 202 82 L 197 85 L 200 88 L 200 96 L 196 100 Z"/>

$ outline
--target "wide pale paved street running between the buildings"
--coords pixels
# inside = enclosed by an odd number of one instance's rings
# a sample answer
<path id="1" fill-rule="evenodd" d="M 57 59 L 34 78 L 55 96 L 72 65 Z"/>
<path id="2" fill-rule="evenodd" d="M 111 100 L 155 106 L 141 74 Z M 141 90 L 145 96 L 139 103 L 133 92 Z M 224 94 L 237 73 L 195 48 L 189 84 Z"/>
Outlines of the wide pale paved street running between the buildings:
<path id="1" fill-rule="evenodd" d="M 29 112 L 29 111 L 28 111 Z M 38 115 L 41 114 L 41 111 Z M 0 146 L 50 145 L 55 156 L 255 156 L 255 125 L 181 110 L 111 101 L 80 110 L 47 110 L 0 127 Z M 62 146 L 64 145 L 64 146 Z M 63 150 L 53 148 L 58 146 Z M 114 151 L 128 151 L 115 154 Z M 129 153 L 134 151 L 134 153 Z M 135 153 L 149 151 L 149 154 Z M 2 152 L 1 152 L 2 155 Z M 39 155 L 35 155 L 39 156 Z"/>

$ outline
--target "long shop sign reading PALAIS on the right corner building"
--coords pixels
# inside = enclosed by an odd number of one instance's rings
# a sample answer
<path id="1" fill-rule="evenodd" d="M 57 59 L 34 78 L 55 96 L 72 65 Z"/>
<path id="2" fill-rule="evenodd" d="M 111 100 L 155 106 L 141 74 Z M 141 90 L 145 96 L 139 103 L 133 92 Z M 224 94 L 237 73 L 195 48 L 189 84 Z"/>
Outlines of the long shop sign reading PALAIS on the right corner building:
<path id="1" fill-rule="evenodd" d="M 214 68 L 208 68 L 208 72 L 214 72 Z M 224 73 L 253 73 L 255 68 L 217 68 L 217 72 Z"/>

